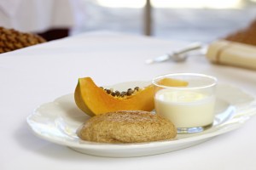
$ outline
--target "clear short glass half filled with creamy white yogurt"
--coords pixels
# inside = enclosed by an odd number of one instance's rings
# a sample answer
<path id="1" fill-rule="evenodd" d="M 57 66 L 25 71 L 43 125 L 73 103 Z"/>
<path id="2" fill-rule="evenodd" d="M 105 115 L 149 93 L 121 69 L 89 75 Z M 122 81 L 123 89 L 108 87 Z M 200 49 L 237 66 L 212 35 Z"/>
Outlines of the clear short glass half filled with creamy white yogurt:
<path id="1" fill-rule="evenodd" d="M 166 117 L 177 133 L 198 133 L 212 126 L 217 78 L 174 73 L 153 79 L 156 114 Z"/>

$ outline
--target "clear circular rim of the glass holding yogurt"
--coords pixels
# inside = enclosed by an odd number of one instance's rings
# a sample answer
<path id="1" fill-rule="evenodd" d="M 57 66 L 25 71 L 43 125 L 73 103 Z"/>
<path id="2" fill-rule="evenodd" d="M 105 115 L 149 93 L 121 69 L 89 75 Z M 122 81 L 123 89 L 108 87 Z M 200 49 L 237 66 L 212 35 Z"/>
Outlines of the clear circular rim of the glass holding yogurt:
<path id="1" fill-rule="evenodd" d="M 165 85 L 160 85 L 158 82 L 156 82 L 156 80 L 160 80 L 161 78 L 164 77 L 170 77 L 171 76 L 194 76 L 194 77 L 205 77 L 208 79 L 212 80 L 212 83 L 209 85 L 202 85 L 199 87 L 172 87 L 172 86 L 165 86 Z M 201 73 L 170 73 L 170 74 L 165 74 L 165 75 L 160 75 L 159 77 L 154 77 L 152 80 L 152 84 L 154 86 L 160 87 L 160 88 L 172 88 L 172 89 L 201 89 L 201 88 L 211 88 L 217 85 L 218 79 L 216 77 L 212 77 L 212 76 L 208 76 L 206 74 L 201 74 Z"/>

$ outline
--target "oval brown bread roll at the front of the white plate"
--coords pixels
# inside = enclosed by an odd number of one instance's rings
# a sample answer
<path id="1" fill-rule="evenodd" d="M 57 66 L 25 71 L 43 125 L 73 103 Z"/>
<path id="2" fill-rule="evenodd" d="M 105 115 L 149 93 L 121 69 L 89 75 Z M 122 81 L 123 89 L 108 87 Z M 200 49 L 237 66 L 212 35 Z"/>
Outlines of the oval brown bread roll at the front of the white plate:
<path id="1" fill-rule="evenodd" d="M 140 143 L 176 137 L 176 127 L 148 111 L 116 111 L 91 117 L 79 138 L 101 143 Z"/>

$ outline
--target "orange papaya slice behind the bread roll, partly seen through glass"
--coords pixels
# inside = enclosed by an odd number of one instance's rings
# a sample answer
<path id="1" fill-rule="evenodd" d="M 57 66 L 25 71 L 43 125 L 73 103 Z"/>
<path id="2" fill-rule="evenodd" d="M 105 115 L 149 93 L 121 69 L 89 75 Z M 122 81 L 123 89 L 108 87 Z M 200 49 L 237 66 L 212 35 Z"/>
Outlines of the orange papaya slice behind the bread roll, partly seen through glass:
<path id="1" fill-rule="evenodd" d="M 183 81 L 164 80 L 163 85 L 186 86 Z M 152 111 L 154 110 L 154 87 L 149 85 L 125 98 L 107 94 L 90 77 L 79 78 L 74 99 L 79 109 L 89 116 L 110 111 Z"/>

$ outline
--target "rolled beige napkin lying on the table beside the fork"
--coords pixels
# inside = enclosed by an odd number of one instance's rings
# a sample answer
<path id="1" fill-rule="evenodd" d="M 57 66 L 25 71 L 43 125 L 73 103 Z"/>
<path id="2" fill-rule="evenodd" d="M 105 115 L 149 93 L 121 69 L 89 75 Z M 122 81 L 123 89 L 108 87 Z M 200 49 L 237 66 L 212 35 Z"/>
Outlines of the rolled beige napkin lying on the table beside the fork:
<path id="1" fill-rule="evenodd" d="M 209 45 L 207 59 L 216 64 L 256 70 L 256 46 L 218 40 Z"/>

